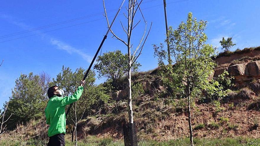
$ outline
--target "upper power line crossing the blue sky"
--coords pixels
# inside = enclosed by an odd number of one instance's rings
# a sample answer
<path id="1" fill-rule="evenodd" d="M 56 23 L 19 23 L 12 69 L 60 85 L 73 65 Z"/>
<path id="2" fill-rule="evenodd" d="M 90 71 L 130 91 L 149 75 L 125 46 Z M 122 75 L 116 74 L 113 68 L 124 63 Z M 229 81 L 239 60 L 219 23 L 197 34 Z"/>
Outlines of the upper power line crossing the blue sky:
<path id="1" fill-rule="evenodd" d="M 149 2 L 152 2 L 152 1 L 157 1 L 157 0 L 145 1 L 145 2 L 143 2 L 143 4 L 149 3 Z M 113 9 L 113 10 L 109 10 L 109 11 L 107 11 L 107 12 L 113 12 L 113 11 L 116 11 L 116 10 L 117 10 L 117 9 Z M 36 28 L 32 28 L 32 29 L 28 29 L 28 30 L 24 30 L 24 31 L 20 31 L 20 32 L 15 32 L 15 33 L 3 35 L 3 36 L 0 36 L 0 39 L 6 38 L 6 37 L 12 37 L 12 36 L 15 36 L 15 35 L 24 34 L 24 33 L 27 33 L 27 32 L 36 31 L 36 30 L 39 30 L 39 29 L 44 29 L 44 28 L 48 28 L 48 27 L 53 27 L 53 26 L 56 26 L 56 25 L 61 25 L 61 24 L 65 24 L 65 23 L 69 23 L 69 22 L 73 22 L 73 21 L 77 21 L 77 20 L 81 20 L 81 19 L 85 19 L 85 18 L 89 18 L 89 17 L 93 17 L 93 16 L 97 16 L 97 15 L 100 15 L 100 14 L 103 14 L 103 13 L 104 13 L 104 12 L 99 12 L 99 13 L 90 14 L 90 15 L 87 15 L 87 16 L 79 17 L 79 18 L 74 18 L 74 19 L 66 20 L 66 21 L 63 21 L 63 22 L 57 22 L 57 23 L 48 24 L 48 25 L 41 26 L 41 27 L 36 27 Z"/>

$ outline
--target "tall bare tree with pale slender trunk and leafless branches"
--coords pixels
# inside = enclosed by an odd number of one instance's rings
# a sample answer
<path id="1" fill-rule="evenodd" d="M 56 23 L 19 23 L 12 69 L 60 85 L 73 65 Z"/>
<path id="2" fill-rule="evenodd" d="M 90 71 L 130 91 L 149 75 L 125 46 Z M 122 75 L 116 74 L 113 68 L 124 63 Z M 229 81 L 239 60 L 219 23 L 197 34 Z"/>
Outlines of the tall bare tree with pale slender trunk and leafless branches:
<path id="1" fill-rule="evenodd" d="M 128 115 L 129 115 L 129 127 L 130 127 L 130 141 L 133 142 L 134 141 L 134 137 L 133 137 L 133 125 L 134 125 L 134 118 L 133 118 L 133 110 L 132 110 L 132 96 L 131 96 L 131 67 L 132 65 L 137 61 L 137 58 L 142 54 L 142 49 L 144 47 L 144 43 L 147 40 L 147 37 L 149 35 L 149 32 L 151 30 L 152 27 L 152 23 L 150 26 L 150 29 L 147 31 L 147 21 L 144 19 L 144 16 L 142 14 L 141 8 L 140 8 L 140 4 L 142 3 L 142 0 L 140 2 L 138 2 L 137 0 L 129 0 L 128 1 L 128 8 L 126 7 L 126 10 L 128 12 L 128 14 L 126 15 L 124 13 L 124 16 L 127 19 L 127 26 L 125 27 L 123 25 L 123 23 L 120 21 L 121 27 L 123 29 L 123 31 L 126 33 L 127 36 L 127 41 L 124 41 L 123 39 L 121 39 L 120 37 L 118 37 L 111 29 L 110 32 L 113 34 L 113 37 L 119 41 L 121 41 L 124 45 L 126 45 L 127 48 L 127 55 L 128 55 L 128 68 L 127 68 L 127 78 L 128 78 Z M 108 21 L 108 16 L 106 13 L 106 9 L 105 9 L 105 2 L 103 0 L 103 6 L 104 6 L 104 11 L 105 14 L 104 16 L 106 17 L 107 20 L 107 25 L 108 27 L 109 25 L 109 21 Z M 137 12 L 140 12 L 142 19 L 145 23 L 145 27 L 144 27 L 144 32 L 142 37 L 140 38 L 140 41 L 137 43 L 137 47 L 134 48 L 133 44 L 131 44 L 131 36 L 132 36 L 132 31 L 133 29 L 141 22 L 141 20 L 139 20 L 136 24 L 134 24 L 134 18 L 137 14 Z M 133 51 L 131 53 L 131 50 Z M 112 63 L 113 64 L 113 63 Z M 117 67 L 118 68 L 118 67 Z M 124 70 L 122 68 L 118 68 L 120 70 Z"/>

